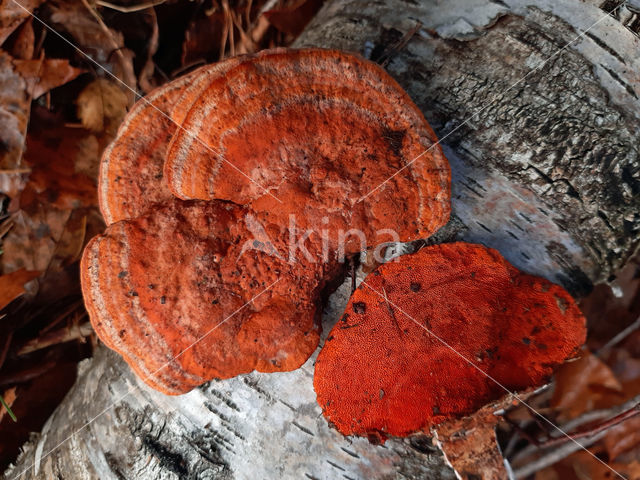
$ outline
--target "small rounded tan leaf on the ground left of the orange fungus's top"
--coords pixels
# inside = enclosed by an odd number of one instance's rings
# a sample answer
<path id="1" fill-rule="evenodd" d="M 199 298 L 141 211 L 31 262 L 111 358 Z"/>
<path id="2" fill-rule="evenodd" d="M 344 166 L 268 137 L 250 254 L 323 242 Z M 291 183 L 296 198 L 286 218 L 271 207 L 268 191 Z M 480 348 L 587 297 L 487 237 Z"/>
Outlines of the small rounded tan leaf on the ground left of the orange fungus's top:
<path id="1" fill-rule="evenodd" d="M 80 92 L 76 104 L 82 125 L 102 132 L 117 129 L 127 113 L 128 99 L 114 82 L 97 78 Z"/>

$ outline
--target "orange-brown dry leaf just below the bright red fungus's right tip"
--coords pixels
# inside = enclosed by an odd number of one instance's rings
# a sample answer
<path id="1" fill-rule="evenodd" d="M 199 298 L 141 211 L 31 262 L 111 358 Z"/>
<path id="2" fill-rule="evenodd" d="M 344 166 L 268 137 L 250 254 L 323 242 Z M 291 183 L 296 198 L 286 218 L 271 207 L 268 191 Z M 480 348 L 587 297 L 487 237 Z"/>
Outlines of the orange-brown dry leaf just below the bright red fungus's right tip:
<path id="1" fill-rule="evenodd" d="M 565 363 L 556 372 L 551 406 L 558 410 L 560 420 L 567 420 L 612 407 L 623 398 L 622 385 L 611 369 L 584 350 L 581 358 Z"/>

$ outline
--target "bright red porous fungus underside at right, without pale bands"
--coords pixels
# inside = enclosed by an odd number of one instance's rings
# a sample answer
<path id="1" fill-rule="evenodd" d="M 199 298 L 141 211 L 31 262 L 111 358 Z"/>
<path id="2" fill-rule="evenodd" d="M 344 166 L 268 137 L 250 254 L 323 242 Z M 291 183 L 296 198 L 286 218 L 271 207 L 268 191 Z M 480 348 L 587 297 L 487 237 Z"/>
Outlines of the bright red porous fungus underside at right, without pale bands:
<path id="1" fill-rule="evenodd" d="M 542 384 L 584 340 L 561 287 L 496 250 L 437 245 L 367 276 L 318 356 L 314 386 L 343 434 L 406 436 L 504 395 L 498 383 Z"/>

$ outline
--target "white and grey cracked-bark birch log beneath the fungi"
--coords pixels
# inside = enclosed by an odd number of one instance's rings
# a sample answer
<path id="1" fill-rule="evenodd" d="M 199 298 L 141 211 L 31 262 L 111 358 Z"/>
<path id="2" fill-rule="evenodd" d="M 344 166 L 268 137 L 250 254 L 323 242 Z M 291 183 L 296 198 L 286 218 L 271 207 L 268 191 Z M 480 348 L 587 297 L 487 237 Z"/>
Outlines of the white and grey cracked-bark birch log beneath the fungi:
<path id="1" fill-rule="evenodd" d="M 443 139 L 449 238 L 579 296 L 638 243 L 638 12 L 636 0 L 334 0 L 297 44 L 384 63 Z M 348 293 L 329 300 L 325 331 Z M 425 438 L 374 446 L 331 429 L 314 359 L 170 398 L 99 349 L 7 478 L 454 478 Z"/>

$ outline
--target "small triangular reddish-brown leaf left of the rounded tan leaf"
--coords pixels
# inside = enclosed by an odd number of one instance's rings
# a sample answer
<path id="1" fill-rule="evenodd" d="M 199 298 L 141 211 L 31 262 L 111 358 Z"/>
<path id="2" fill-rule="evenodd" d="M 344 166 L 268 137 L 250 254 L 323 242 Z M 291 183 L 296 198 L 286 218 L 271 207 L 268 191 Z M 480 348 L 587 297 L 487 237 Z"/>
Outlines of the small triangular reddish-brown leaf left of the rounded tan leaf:
<path id="1" fill-rule="evenodd" d="M 13 65 L 26 80 L 27 89 L 34 100 L 85 72 L 64 59 L 14 60 Z"/>

